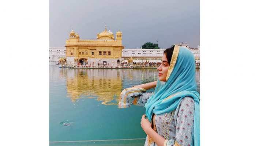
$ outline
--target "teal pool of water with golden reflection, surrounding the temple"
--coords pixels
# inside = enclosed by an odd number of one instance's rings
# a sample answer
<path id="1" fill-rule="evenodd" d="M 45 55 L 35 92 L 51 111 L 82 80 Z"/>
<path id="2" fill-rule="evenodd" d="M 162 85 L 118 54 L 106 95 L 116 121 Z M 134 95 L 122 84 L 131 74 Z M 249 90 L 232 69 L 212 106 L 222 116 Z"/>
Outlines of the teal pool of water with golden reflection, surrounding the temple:
<path id="1" fill-rule="evenodd" d="M 118 108 L 118 98 L 124 88 L 157 78 L 157 69 L 50 66 L 50 145 L 143 145 L 145 108 Z M 200 89 L 199 70 L 196 78 Z"/>

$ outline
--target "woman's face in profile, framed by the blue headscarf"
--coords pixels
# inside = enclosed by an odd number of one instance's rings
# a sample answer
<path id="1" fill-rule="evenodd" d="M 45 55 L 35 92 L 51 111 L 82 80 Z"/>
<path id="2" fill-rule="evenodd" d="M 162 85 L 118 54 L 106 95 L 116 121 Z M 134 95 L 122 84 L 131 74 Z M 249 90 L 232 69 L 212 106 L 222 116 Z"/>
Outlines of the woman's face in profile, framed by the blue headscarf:
<path id="1" fill-rule="evenodd" d="M 157 70 L 158 70 L 158 77 L 159 77 L 160 81 L 166 82 L 166 76 L 167 76 L 167 72 L 168 72 L 169 66 L 170 65 L 168 63 L 166 55 L 163 54 L 162 64 L 157 68 Z"/>

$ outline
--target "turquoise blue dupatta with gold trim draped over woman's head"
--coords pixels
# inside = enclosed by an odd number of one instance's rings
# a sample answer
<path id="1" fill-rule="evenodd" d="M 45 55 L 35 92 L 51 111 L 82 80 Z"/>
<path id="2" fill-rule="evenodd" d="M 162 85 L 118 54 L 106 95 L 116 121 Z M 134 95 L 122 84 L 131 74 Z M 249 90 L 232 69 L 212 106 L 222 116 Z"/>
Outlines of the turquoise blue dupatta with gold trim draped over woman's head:
<path id="1" fill-rule="evenodd" d="M 152 114 L 163 114 L 177 108 L 181 99 L 190 96 L 195 101 L 194 146 L 200 146 L 199 93 L 196 91 L 195 58 L 185 47 L 175 45 L 166 82 L 159 81 L 155 93 L 148 99 L 145 108 L 148 120 Z"/>

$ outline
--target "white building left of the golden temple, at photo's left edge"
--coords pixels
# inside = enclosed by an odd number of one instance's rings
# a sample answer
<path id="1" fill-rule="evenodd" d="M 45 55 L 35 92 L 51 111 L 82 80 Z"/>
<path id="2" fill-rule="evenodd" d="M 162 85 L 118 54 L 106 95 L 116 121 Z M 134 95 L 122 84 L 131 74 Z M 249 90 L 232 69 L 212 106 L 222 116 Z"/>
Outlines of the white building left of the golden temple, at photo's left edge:
<path id="1" fill-rule="evenodd" d="M 56 65 L 60 58 L 66 57 L 66 47 L 49 48 L 49 65 Z"/>

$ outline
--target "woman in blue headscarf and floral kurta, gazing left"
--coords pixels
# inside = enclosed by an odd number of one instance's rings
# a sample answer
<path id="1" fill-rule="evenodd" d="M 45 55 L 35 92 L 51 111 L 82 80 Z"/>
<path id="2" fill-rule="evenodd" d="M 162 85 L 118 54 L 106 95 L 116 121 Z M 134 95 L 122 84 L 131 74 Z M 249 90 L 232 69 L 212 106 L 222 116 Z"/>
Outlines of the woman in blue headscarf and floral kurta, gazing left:
<path id="1" fill-rule="evenodd" d="M 155 82 L 124 89 L 119 107 L 142 105 L 146 115 L 141 127 L 145 146 L 199 146 L 199 93 L 196 91 L 195 59 L 177 45 L 166 49 Z M 146 93 L 155 88 L 154 93 Z"/>

